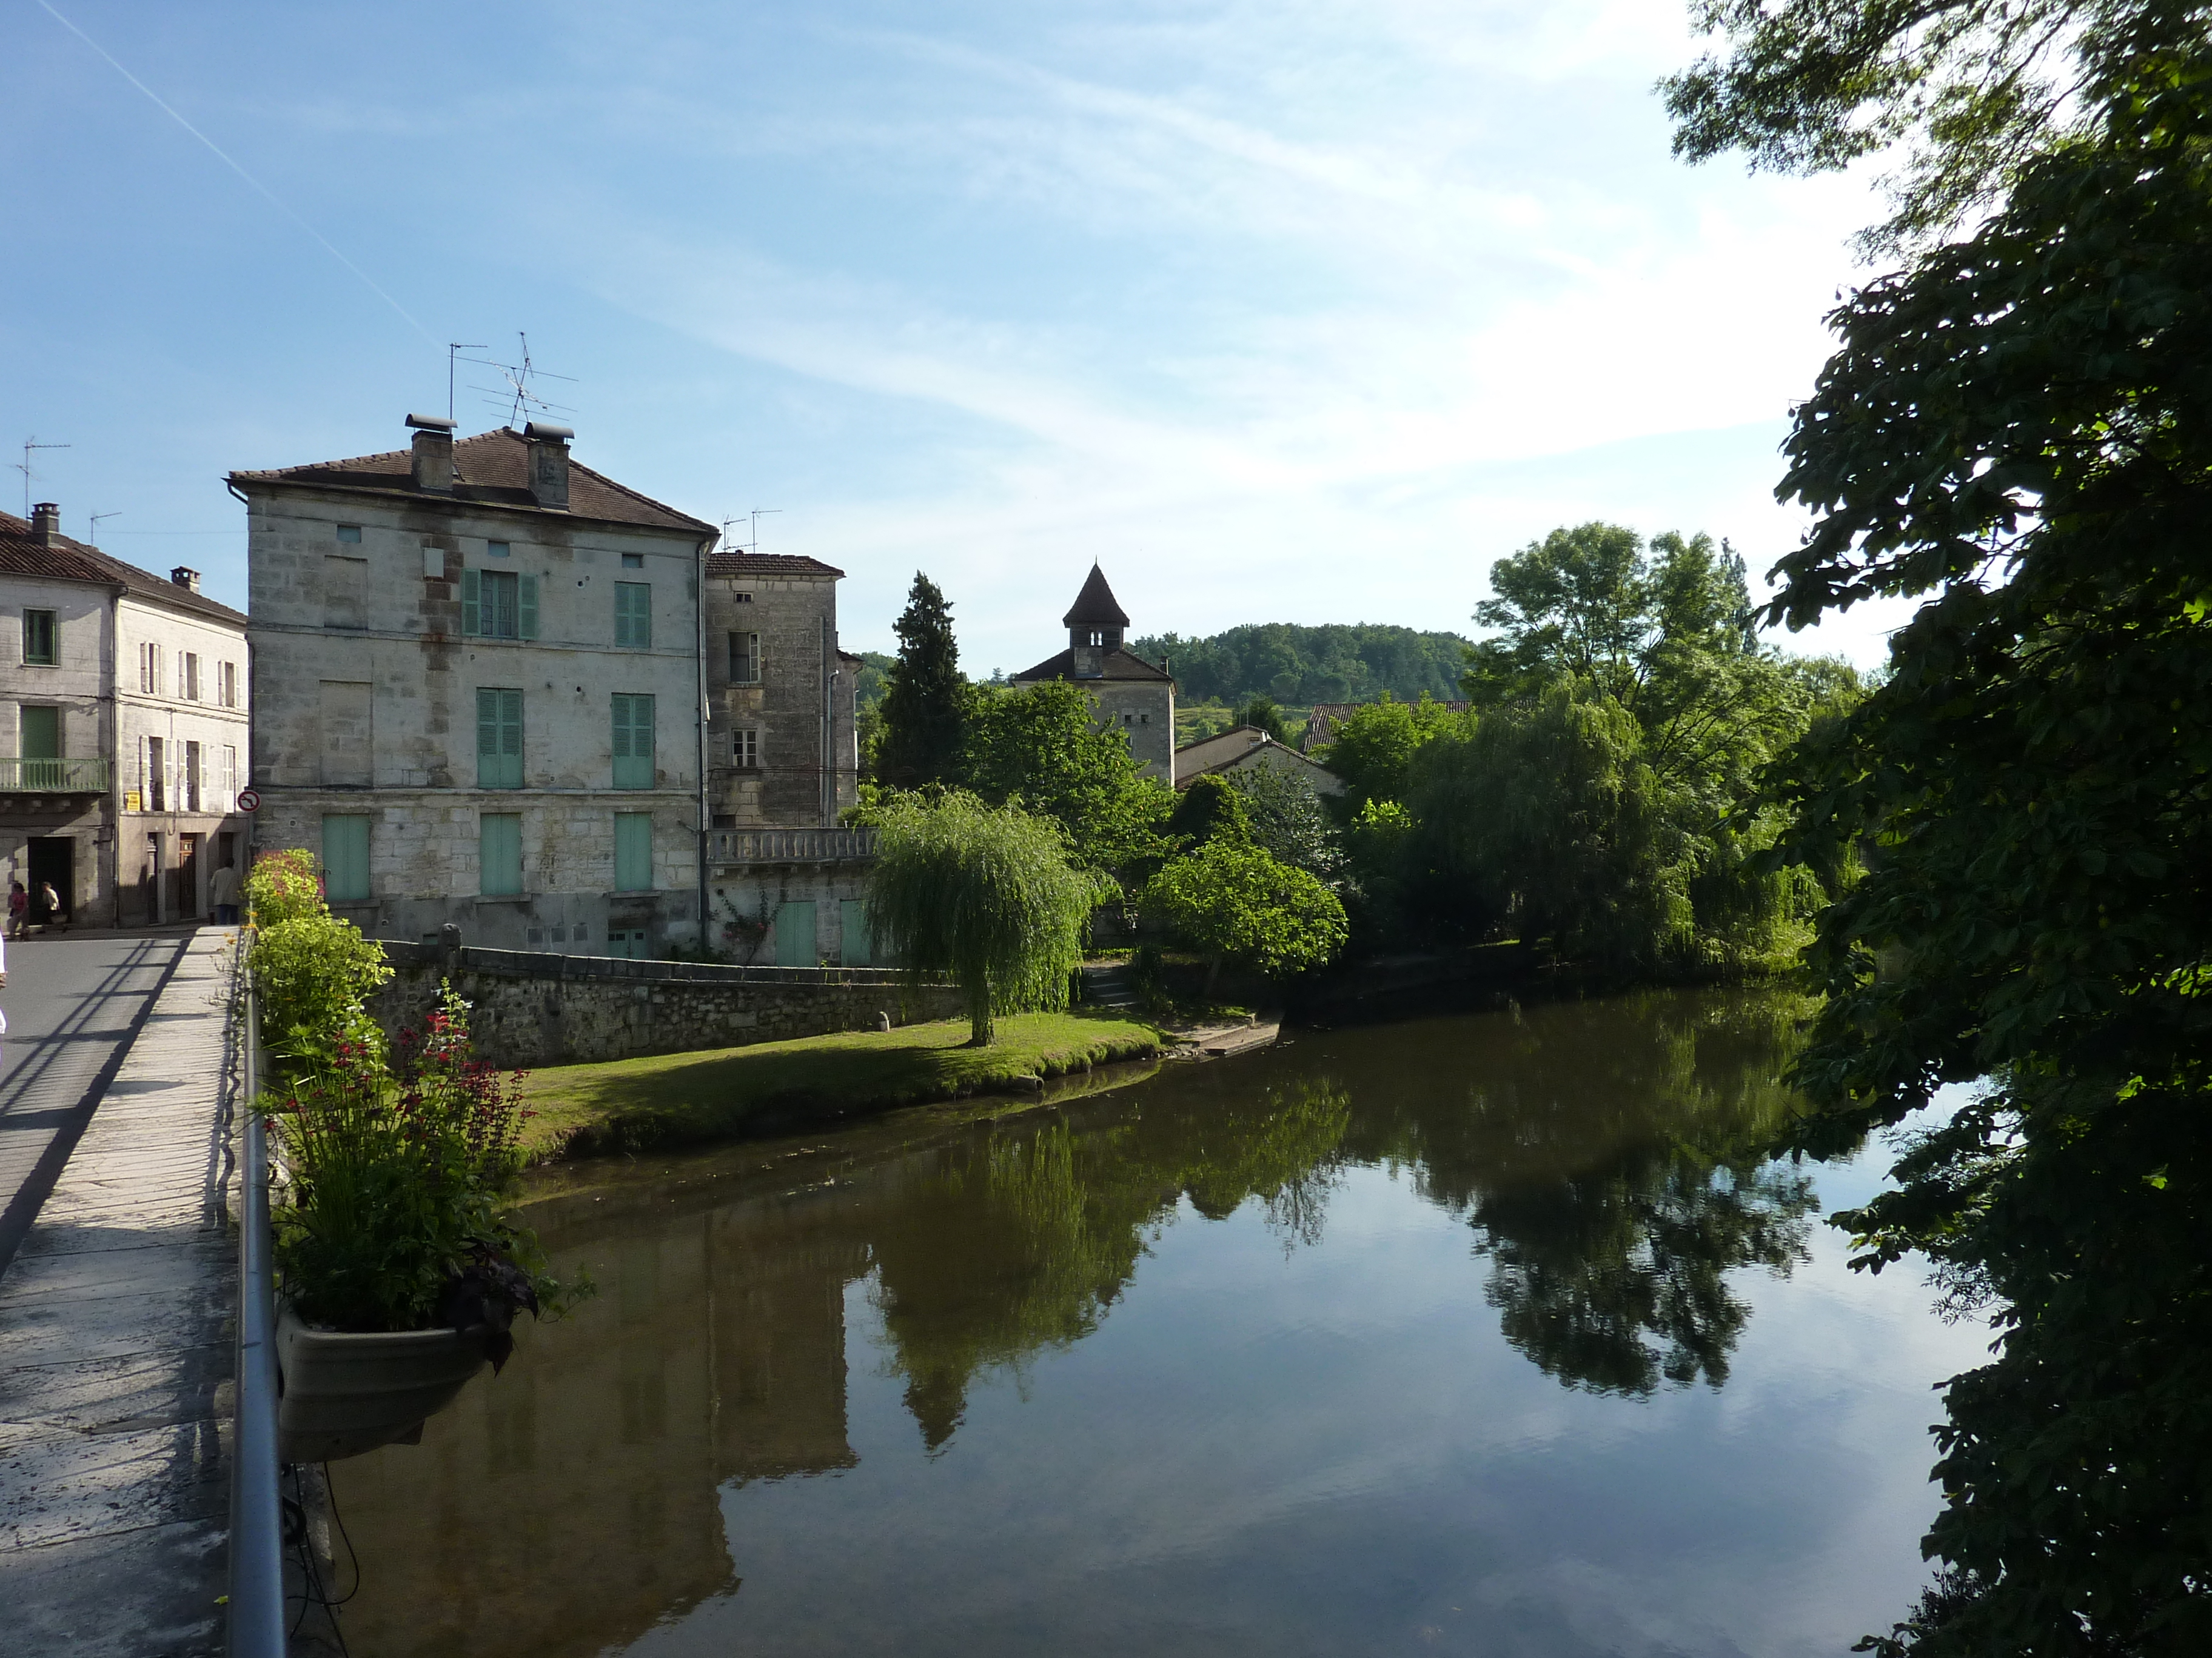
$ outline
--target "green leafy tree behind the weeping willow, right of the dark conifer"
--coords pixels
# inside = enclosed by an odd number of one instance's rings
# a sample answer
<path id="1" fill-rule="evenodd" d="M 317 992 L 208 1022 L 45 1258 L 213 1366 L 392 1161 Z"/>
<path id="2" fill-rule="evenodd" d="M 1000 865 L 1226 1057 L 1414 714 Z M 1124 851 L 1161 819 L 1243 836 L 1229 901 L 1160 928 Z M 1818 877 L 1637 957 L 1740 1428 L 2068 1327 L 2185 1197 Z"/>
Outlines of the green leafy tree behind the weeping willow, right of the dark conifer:
<path id="1" fill-rule="evenodd" d="M 969 703 L 964 776 L 989 805 L 1020 805 L 1060 825 L 1075 858 L 1121 871 L 1161 851 L 1175 789 L 1139 776 L 1128 736 L 1097 725 L 1091 694 L 1066 679 L 978 688 Z"/>

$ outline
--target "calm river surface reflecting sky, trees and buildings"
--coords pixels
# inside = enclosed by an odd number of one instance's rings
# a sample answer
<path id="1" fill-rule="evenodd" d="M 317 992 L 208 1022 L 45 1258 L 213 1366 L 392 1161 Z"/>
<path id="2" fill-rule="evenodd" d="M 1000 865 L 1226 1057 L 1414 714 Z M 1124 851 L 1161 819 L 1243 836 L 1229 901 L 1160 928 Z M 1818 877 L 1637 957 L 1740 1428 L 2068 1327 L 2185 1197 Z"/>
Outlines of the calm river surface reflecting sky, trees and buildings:
<path id="1" fill-rule="evenodd" d="M 1336 1032 L 580 1167 L 599 1298 L 334 1468 L 354 1654 L 1840 1654 L 1986 1333 L 1759 1154 L 1794 1004 Z M 343 1567 L 341 1567 L 343 1572 Z"/>

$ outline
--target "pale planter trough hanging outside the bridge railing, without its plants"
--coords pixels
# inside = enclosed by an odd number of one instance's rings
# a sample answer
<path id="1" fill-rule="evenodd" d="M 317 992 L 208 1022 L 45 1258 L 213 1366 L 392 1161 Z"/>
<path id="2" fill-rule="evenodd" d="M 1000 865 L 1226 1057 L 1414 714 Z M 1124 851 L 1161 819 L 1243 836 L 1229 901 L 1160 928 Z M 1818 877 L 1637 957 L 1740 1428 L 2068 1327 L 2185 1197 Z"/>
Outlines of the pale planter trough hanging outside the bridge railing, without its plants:
<path id="1" fill-rule="evenodd" d="M 484 1331 L 323 1331 L 276 1313 L 276 1455 L 338 1461 L 416 1444 L 484 1368 Z"/>

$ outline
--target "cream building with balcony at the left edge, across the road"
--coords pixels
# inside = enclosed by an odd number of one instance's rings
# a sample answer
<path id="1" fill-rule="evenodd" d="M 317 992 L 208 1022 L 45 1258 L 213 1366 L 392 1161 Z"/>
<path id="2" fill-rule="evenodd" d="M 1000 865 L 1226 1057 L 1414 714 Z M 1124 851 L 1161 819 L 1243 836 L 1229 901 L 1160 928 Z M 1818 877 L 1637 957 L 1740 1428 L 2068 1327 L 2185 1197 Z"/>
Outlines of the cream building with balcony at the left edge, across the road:
<path id="1" fill-rule="evenodd" d="M 0 513 L 0 882 L 53 884 L 62 915 L 33 922 L 206 915 L 246 851 L 246 617 L 60 520 Z"/>

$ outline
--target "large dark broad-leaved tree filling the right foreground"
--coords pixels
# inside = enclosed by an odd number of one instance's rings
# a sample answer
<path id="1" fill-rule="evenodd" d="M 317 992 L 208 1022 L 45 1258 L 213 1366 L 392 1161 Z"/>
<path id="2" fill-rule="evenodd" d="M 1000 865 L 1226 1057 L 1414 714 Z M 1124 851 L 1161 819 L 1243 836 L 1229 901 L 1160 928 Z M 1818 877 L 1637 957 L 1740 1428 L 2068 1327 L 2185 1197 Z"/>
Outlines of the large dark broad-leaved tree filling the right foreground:
<path id="1" fill-rule="evenodd" d="M 1787 442 L 1776 612 L 1922 599 L 1787 780 L 1796 856 L 1876 844 L 1798 1143 L 1982 1079 L 1847 1218 L 2000 1331 L 1944 1395 L 1942 1592 L 1876 1643 L 1931 1658 L 2212 1649 L 2212 49 L 2075 22 L 2070 135 L 1834 314 Z"/>

